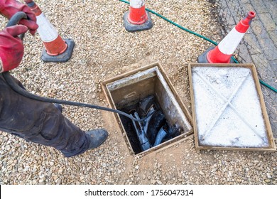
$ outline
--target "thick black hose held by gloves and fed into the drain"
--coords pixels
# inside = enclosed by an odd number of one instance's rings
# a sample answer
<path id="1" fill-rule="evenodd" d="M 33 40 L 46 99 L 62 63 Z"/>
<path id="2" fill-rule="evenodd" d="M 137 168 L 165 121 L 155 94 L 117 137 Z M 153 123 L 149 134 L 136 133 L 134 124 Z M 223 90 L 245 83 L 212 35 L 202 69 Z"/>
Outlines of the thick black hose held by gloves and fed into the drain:
<path id="1" fill-rule="evenodd" d="M 16 14 L 14 14 L 9 23 L 7 23 L 6 27 L 9 26 L 15 26 L 22 18 L 27 18 L 26 14 L 24 12 L 18 12 Z M 23 39 L 24 35 L 22 34 L 21 39 Z M 67 100 L 63 100 L 63 99 L 53 99 L 53 98 L 49 98 L 49 97 L 40 97 L 38 95 L 33 95 L 30 92 L 24 90 L 22 87 L 20 87 L 16 82 L 14 82 L 13 77 L 11 76 L 11 74 L 9 72 L 3 72 L 3 77 L 6 80 L 7 84 L 11 87 L 11 89 L 15 92 L 17 92 L 20 95 L 23 95 L 24 97 L 28 97 L 29 99 L 34 99 L 36 101 L 40 101 L 40 102 L 50 102 L 50 103 L 56 103 L 56 104 L 65 104 L 65 105 L 70 105 L 70 106 L 76 106 L 76 107 L 87 107 L 87 108 L 92 108 L 92 109 L 100 109 L 100 110 L 104 110 L 104 111 L 108 111 L 108 112 L 114 112 L 117 114 L 121 114 L 124 115 L 125 117 L 128 117 L 129 119 L 132 119 L 136 122 L 143 122 L 146 118 L 144 119 L 136 119 L 134 117 L 131 117 L 129 114 L 126 114 L 125 112 L 121 112 L 119 110 L 116 109 L 110 109 L 108 107 L 101 107 L 98 105 L 94 105 L 94 104 L 85 104 L 82 102 L 72 102 L 72 101 L 67 101 Z M 150 114 L 148 117 L 151 117 L 152 114 Z"/>

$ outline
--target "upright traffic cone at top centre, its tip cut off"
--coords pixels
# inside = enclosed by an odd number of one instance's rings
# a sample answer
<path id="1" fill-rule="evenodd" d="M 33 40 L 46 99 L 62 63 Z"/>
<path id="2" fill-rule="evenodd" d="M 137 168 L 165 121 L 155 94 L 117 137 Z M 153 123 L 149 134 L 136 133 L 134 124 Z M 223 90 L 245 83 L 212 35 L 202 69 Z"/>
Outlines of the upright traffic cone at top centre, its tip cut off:
<path id="1" fill-rule="evenodd" d="M 130 9 L 124 14 L 126 31 L 145 31 L 153 27 L 151 16 L 145 9 L 145 0 L 131 0 Z"/>

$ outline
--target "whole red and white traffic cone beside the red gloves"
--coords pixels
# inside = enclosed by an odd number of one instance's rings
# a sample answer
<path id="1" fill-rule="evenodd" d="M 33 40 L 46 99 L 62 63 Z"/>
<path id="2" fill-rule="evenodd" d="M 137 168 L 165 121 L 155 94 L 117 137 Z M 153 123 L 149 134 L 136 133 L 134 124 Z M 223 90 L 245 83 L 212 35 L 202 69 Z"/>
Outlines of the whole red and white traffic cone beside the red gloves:
<path id="1" fill-rule="evenodd" d="M 44 62 L 64 63 L 70 60 L 75 46 L 71 39 L 63 39 L 48 21 L 46 16 L 40 10 L 33 0 L 24 0 L 36 15 L 38 23 L 38 34 L 43 41 L 45 49 L 41 55 Z"/>

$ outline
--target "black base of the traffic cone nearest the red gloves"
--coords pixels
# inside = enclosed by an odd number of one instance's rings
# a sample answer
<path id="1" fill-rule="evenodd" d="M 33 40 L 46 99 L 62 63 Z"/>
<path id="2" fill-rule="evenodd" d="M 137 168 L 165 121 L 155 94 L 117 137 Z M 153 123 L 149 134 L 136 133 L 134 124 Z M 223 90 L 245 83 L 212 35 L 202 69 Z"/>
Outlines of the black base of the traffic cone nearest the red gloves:
<path id="1" fill-rule="evenodd" d="M 45 48 L 43 48 L 43 53 L 41 55 L 41 60 L 43 60 L 45 63 L 65 63 L 68 60 L 70 60 L 73 48 L 75 47 L 75 42 L 72 41 L 70 38 L 63 39 L 67 45 L 66 50 L 59 54 L 59 55 L 49 55 Z"/>

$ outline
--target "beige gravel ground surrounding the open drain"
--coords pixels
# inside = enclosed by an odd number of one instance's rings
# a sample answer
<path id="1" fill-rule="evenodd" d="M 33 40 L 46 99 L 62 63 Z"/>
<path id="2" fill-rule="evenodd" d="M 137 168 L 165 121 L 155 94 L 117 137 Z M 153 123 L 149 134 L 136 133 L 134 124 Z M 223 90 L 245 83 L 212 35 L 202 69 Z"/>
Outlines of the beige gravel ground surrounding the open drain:
<path id="1" fill-rule="evenodd" d="M 25 55 L 13 75 L 26 89 L 45 97 L 108 106 L 101 82 L 159 61 L 190 109 L 188 63 L 210 47 L 201 38 L 151 15 L 149 31 L 128 33 L 120 1 L 37 0 L 60 36 L 72 38 L 67 63 L 43 63 L 43 43 L 27 34 Z M 210 1 L 147 1 L 146 7 L 192 31 L 219 41 L 220 28 Z M 1 28 L 6 20 L 1 21 Z M 63 106 L 65 116 L 83 130 L 104 127 L 109 139 L 74 158 L 4 132 L 0 134 L 0 184 L 277 184 L 277 153 L 196 151 L 193 136 L 147 156 L 132 156 L 114 114 Z"/>

